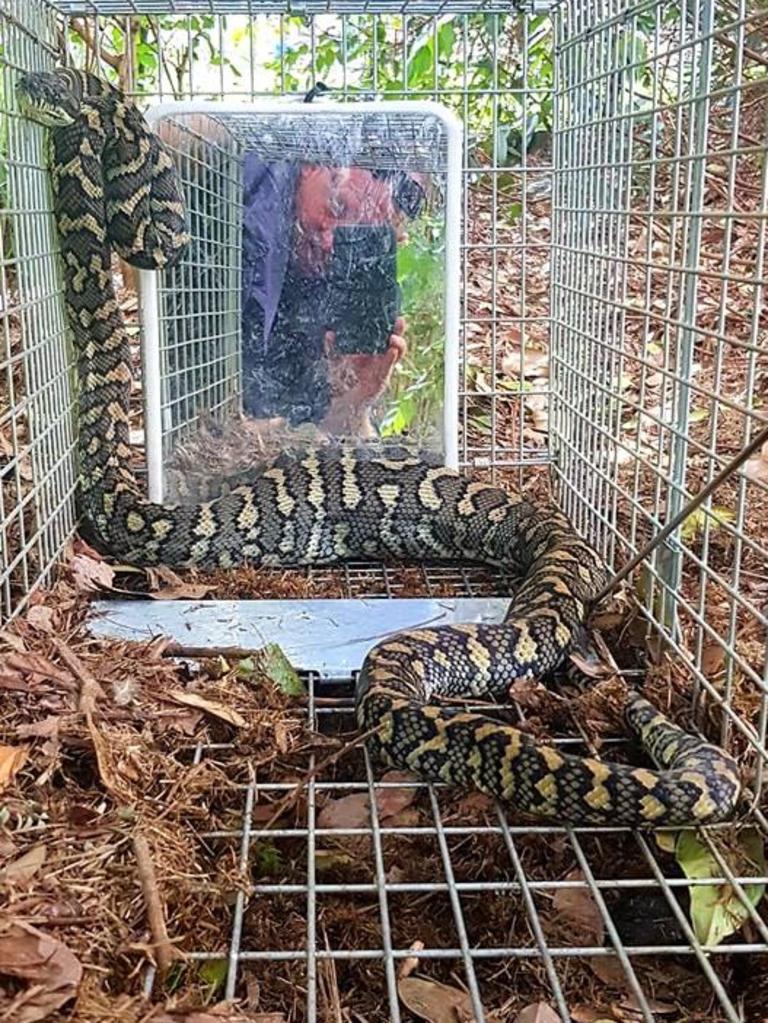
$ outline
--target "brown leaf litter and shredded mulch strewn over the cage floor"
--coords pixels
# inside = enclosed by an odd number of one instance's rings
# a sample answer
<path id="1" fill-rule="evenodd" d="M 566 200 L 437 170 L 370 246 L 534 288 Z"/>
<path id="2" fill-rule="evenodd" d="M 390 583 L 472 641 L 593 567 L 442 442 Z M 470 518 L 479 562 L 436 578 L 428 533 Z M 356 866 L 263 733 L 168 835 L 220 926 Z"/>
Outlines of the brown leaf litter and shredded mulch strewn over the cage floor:
<path id="1" fill-rule="evenodd" d="M 356 737 L 354 719 L 346 718 L 348 730 L 340 732 L 338 722 L 345 719 L 324 715 L 331 722 L 329 730 L 310 731 L 304 683 L 279 649 L 247 659 L 175 660 L 157 639 L 128 643 L 90 636 L 83 627 L 86 603 L 64 578 L 37 605 L 53 609 L 55 631 L 39 627 L 49 616 L 38 613 L 32 622 L 20 618 L 9 627 L 14 639 L 0 655 L 0 671 L 12 672 L 18 681 L 18 687 L 0 688 L 0 739 L 10 750 L 27 750 L 3 797 L 8 813 L 26 820 L 27 830 L 9 832 L 7 844 L 0 846 L 5 855 L 0 885 L 7 896 L 2 920 L 8 928 L 32 928 L 50 939 L 56 962 L 67 967 L 64 979 L 53 973 L 33 980 L 14 973 L 12 962 L 7 968 L 0 965 L 0 977 L 8 978 L 0 1007 L 39 990 L 43 993 L 35 994 L 37 1000 L 27 1011 L 50 1009 L 45 1018 L 55 1020 L 65 1012 L 77 1023 L 112 1018 L 139 1023 L 147 1011 L 141 996 L 143 970 L 162 958 L 165 944 L 168 979 L 165 988 L 155 986 L 152 1019 L 272 1023 L 274 1014 L 279 1023 L 302 1019 L 301 999 L 289 993 L 299 990 L 301 963 L 243 966 L 239 1000 L 232 1006 L 217 1003 L 223 967 L 201 969 L 186 953 L 208 952 L 220 957 L 214 964 L 225 963 L 236 892 L 247 893 L 254 883 L 301 883 L 306 876 L 304 841 L 272 840 L 265 833 L 253 841 L 249 868 L 241 871 L 243 787 L 253 780 L 279 783 L 286 795 L 277 798 L 269 790 L 257 790 L 252 827 L 301 828 L 308 805 L 306 791 L 297 783 L 308 776 L 311 757 L 321 764 L 333 761 L 318 775 L 338 786 L 316 792 L 316 826 L 327 830 L 317 842 L 318 879 L 346 884 L 371 880 L 368 794 L 345 791 L 348 782 L 364 776 L 362 751 L 350 744 Z M 598 680 L 595 687 L 611 692 L 615 684 Z M 528 690 L 516 691 L 521 705 L 533 708 L 529 714 L 539 715 L 530 725 L 537 733 L 551 733 L 574 706 L 561 696 L 547 701 L 538 688 L 530 694 L 529 699 Z M 327 699 L 335 706 L 337 697 Z M 601 724 L 591 727 L 599 731 Z M 198 743 L 216 746 L 195 761 Z M 9 756 L 15 763 L 17 754 Z M 376 814 L 390 883 L 439 879 L 444 871 L 440 851 L 433 839 L 419 834 L 432 819 L 423 790 L 406 772 L 379 769 L 376 777 L 386 783 L 376 790 Z M 495 819 L 492 801 L 480 793 L 441 797 L 441 811 L 447 826 Z M 414 827 L 415 834 L 397 834 Z M 362 834 L 333 835 L 344 829 Z M 211 833 L 223 837 L 205 837 Z M 554 841 L 545 847 L 532 838 L 515 840 L 527 875 L 570 882 L 548 899 L 537 896 L 548 936 L 564 943 L 601 944 L 599 909 L 583 877 L 575 873 L 568 844 Z M 449 837 L 449 844 L 457 880 L 513 880 L 496 836 Z M 613 859 L 607 848 L 605 855 Z M 599 869 L 604 871 L 604 864 Z M 415 1017 L 421 1013 L 420 1018 L 440 1023 L 450 1012 L 453 1020 L 469 1020 L 470 1004 L 452 965 L 419 960 L 421 948 L 451 940 L 453 914 L 450 902 L 441 898 L 390 895 L 393 942 L 413 949 L 407 972 L 399 977 L 400 996 Z M 482 897 L 466 893 L 462 906 L 472 943 L 493 945 L 499 935 L 504 942 L 528 940 L 518 895 L 503 890 Z M 375 947 L 380 940 L 377 919 L 375 895 L 324 897 L 318 907 L 318 922 L 336 947 Z M 301 900 L 261 897 L 246 910 L 242 940 L 250 947 L 301 948 L 306 927 Z M 74 978 L 75 963 L 82 971 L 79 979 L 64 982 Z M 599 1009 L 605 1002 L 600 992 L 612 987 L 620 999 L 629 997 L 621 968 L 616 978 L 602 976 L 615 964 L 613 958 L 600 957 L 597 964 L 597 959 L 571 964 L 567 989 L 574 998 L 584 1003 L 585 992 L 593 989 L 592 1005 Z M 677 992 L 693 1004 L 695 973 L 686 974 L 684 983 L 677 978 L 675 991 L 675 985 L 663 983 L 661 961 L 654 961 L 652 971 L 653 988 L 671 1004 L 678 1004 Z M 540 1008 L 549 1008 L 542 1000 L 545 988 L 530 963 L 508 961 L 500 973 L 494 970 L 496 975 L 496 981 L 483 985 L 490 998 L 489 1018 L 514 1019 L 535 1007 L 546 1019 Z M 332 1000 L 341 999 L 342 1007 L 378 1021 L 385 1018 L 379 1010 L 386 992 L 377 984 L 366 961 L 340 961 L 332 975 L 324 974 L 323 989 Z M 512 1000 L 510 990 L 516 992 Z M 60 1005 L 54 1008 L 57 999 Z"/>

